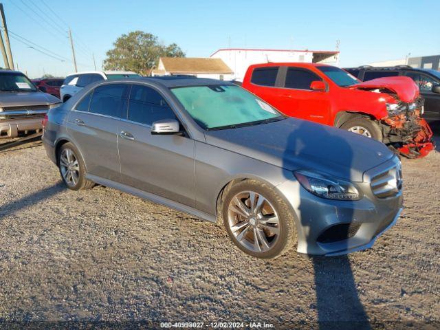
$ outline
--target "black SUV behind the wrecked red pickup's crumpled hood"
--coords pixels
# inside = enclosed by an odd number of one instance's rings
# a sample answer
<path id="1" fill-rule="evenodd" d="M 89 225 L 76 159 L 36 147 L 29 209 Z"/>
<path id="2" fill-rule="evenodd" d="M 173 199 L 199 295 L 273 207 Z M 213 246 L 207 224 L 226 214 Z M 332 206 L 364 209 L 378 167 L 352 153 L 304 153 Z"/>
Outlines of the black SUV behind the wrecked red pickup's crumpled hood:
<path id="1" fill-rule="evenodd" d="M 440 126 L 440 72 L 432 69 L 417 69 L 409 65 L 396 67 L 371 67 L 367 65 L 345 70 L 362 81 L 382 77 L 410 77 L 415 81 L 421 96 L 425 99 L 422 117 L 430 125 Z"/>

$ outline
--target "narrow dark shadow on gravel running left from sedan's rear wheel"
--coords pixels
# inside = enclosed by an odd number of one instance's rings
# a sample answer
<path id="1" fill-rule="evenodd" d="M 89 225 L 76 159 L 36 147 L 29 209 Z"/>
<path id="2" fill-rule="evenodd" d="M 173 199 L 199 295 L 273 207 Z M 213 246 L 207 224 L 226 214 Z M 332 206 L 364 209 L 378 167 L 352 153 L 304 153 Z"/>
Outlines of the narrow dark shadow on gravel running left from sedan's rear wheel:
<path id="1" fill-rule="evenodd" d="M 45 201 L 45 199 L 49 199 L 65 189 L 67 188 L 63 181 L 58 181 L 56 184 L 52 184 L 52 186 L 48 186 L 47 188 L 26 195 L 25 197 L 21 197 L 20 199 L 14 199 L 10 203 L 6 203 L 0 207 L 0 221 L 7 215 L 14 214 L 19 210 L 41 203 L 42 201 Z"/>

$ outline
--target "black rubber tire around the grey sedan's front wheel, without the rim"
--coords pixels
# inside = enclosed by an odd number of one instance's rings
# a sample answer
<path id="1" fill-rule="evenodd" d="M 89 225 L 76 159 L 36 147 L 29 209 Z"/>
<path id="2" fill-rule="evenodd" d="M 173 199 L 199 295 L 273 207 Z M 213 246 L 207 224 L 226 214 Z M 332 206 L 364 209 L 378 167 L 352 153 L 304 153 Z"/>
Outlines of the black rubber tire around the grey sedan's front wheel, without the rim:
<path id="1" fill-rule="evenodd" d="M 245 191 L 256 192 L 258 195 L 263 196 L 271 204 L 270 206 L 274 208 L 276 214 L 278 215 L 278 237 L 276 240 L 272 241 L 273 245 L 270 246 L 270 250 L 265 252 L 255 252 L 243 246 L 242 243 L 239 243 L 230 228 L 230 203 L 237 194 Z M 239 183 L 234 184 L 233 186 L 226 187 L 225 191 L 223 192 L 223 196 L 224 198 L 222 198 L 223 200 L 221 202 L 221 217 L 223 218 L 223 224 L 226 228 L 226 232 L 228 232 L 228 235 L 230 236 L 230 239 L 240 250 L 260 259 L 275 259 L 294 246 L 296 243 L 296 226 L 293 214 L 285 201 L 272 187 L 268 186 L 267 184 L 263 184 L 260 181 L 248 179 L 239 181 Z M 263 247 L 263 245 L 261 246 Z"/>

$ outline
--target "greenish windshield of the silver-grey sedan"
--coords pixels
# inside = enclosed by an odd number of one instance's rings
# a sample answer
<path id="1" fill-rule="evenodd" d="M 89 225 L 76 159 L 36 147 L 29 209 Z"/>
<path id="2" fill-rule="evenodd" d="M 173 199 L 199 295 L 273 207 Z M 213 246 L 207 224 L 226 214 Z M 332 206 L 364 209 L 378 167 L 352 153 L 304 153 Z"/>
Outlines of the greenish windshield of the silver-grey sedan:
<path id="1" fill-rule="evenodd" d="M 284 115 L 236 85 L 206 85 L 171 89 L 203 129 L 234 129 L 284 119 Z"/>

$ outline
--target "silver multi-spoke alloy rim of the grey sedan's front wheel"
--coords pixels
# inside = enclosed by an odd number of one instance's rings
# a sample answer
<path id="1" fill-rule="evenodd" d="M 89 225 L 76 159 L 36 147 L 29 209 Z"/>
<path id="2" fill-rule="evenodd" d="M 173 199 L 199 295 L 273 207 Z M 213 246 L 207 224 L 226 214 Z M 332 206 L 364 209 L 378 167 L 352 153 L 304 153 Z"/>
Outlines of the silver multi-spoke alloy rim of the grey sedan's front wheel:
<path id="1" fill-rule="evenodd" d="M 275 208 L 263 195 L 254 191 L 236 194 L 228 206 L 229 228 L 244 248 L 252 252 L 267 252 L 280 234 L 280 222 Z"/>

